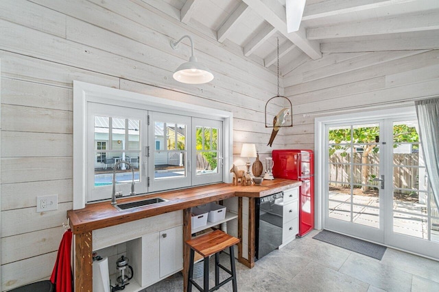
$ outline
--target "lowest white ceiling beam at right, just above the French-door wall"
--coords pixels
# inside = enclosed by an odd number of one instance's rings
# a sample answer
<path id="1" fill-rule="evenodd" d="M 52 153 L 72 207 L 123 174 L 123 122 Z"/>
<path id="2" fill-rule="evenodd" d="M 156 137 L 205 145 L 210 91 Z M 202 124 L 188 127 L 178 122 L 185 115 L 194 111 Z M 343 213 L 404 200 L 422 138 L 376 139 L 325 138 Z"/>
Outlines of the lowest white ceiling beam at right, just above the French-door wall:
<path id="1" fill-rule="evenodd" d="M 438 38 L 399 38 L 391 40 L 362 40 L 320 44 L 322 53 L 356 53 L 372 51 L 409 51 L 439 49 Z"/>

